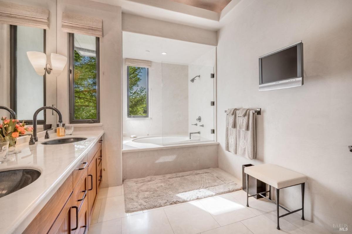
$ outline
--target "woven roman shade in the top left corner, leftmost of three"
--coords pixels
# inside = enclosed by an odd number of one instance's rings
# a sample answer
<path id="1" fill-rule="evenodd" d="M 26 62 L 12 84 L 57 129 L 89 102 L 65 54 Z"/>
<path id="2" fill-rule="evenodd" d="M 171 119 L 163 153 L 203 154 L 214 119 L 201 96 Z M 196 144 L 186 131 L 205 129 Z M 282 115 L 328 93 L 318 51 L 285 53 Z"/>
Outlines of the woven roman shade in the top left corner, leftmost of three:
<path id="1" fill-rule="evenodd" d="M 49 10 L 0 1 L 0 23 L 49 29 Z"/>

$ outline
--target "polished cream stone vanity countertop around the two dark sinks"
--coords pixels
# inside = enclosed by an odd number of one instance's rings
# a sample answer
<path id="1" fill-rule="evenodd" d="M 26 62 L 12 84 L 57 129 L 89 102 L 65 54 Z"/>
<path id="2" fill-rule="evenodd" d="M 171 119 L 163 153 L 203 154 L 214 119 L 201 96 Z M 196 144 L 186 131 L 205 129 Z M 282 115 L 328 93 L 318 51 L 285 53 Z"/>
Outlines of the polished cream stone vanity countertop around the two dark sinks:
<path id="1" fill-rule="evenodd" d="M 41 175 L 30 185 L 0 198 L 0 234 L 22 233 L 103 134 L 102 130 L 76 131 L 74 137 L 87 140 L 42 145 L 42 137 L 32 146 L 28 142 L 17 145 L 16 151 L 21 152 L 10 155 L 9 160 L 0 165 L 0 171 L 33 168 Z M 58 138 L 55 133 L 50 135 L 50 139 L 55 138 Z"/>

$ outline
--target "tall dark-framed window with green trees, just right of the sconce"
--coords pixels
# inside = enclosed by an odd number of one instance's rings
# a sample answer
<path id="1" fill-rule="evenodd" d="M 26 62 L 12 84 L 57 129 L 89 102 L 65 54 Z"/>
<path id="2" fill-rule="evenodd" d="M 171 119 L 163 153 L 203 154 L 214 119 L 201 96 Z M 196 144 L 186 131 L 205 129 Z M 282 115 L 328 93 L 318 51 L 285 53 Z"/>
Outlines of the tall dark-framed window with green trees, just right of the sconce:
<path id="1" fill-rule="evenodd" d="M 70 123 L 99 123 L 99 38 L 69 34 Z"/>

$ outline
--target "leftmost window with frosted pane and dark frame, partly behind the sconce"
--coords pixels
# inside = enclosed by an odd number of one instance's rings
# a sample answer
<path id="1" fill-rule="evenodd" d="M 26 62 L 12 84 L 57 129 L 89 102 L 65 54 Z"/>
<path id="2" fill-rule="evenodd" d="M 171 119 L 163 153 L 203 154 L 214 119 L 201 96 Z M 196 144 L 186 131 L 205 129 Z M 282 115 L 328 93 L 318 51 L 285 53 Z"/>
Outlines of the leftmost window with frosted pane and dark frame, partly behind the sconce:
<path id="1" fill-rule="evenodd" d="M 33 113 L 45 106 L 45 75 L 34 71 L 27 51 L 45 53 L 45 29 L 10 26 L 10 106 L 21 121 L 33 123 Z M 38 124 L 45 124 L 45 110 Z"/>

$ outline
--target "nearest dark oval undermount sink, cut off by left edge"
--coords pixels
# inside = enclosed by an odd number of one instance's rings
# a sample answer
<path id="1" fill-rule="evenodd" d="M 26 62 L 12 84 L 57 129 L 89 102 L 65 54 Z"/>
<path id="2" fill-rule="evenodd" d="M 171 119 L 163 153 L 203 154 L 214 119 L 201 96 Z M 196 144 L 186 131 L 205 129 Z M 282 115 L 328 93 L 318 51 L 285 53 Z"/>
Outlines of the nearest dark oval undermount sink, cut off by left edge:
<path id="1" fill-rule="evenodd" d="M 40 176 L 34 169 L 17 169 L 0 172 L 0 198 L 33 183 Z"/>

